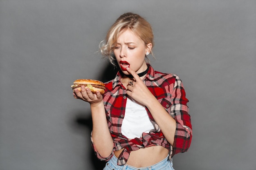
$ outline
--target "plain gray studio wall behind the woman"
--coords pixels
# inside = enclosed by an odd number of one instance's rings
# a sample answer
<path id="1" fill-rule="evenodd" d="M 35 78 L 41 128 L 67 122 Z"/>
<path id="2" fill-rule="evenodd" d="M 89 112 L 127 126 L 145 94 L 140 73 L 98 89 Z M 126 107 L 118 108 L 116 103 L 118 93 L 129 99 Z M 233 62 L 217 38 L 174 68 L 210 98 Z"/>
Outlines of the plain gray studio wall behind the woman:
<path id="1" fill-rule="evenodd" d="M 174 168 L 255 170 L 255 0 L 0 0 L 0 169 L 102 167 L 70 85 L 113 76 L 98 45 L 128 11 L 152 24 L 151 64 L 190 100 L 193 140 Z"/>

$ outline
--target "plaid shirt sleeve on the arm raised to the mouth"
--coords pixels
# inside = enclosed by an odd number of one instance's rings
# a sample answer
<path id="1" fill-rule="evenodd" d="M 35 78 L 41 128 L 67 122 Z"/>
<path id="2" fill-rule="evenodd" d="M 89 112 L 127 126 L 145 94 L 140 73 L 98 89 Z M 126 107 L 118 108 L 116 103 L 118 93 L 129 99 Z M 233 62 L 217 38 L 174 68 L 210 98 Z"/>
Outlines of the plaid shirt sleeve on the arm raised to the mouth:
<path id="1" fill-rule="evenodd" d="M 176 130 L 171 156 L 186 152 L 192 139 L 191 117 L 189 115 L 188 99 L 182 81 L 176 75 L 175 83 L 171 85 L 171 116 L 176 120 Z"/>

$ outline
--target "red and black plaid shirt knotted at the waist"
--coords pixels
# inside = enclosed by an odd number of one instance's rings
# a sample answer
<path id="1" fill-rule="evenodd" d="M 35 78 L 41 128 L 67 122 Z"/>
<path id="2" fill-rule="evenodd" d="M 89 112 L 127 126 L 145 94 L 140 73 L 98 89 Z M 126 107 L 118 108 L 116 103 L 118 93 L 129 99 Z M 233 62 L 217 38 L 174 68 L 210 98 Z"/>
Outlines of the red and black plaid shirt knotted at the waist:
<path id="1" fill-rule="evenodd" d="M 121 77 L 122 74 L 119 72 L 115 79 L 107 82 L 105 84 L 106 91 L 103 95 L 108 128 L 114 141 L 112 154 L 115 150 L 124 148 L 118 158 L 117 165 L 124 165 L 129 158 L 130 152 L 139 148 L 163 146 L 169 150 L 170 159 L 179 152 L 186 152 L 191 144 L 192 126 L 188 113 L 189 108 L 186 106 L 189 100 L 185 97 L 185 91 L 180 78 L 177 75 L 154 71 L 149 66 L 148 74 L 143 79 L 151 93 L 176 120 L 174 144 L 171 146 L 147 108 L 146 110 L 154 129 L 150 130 L 149 133 L 143 133 L 141 138 L 132 140 L 128 140 L 122 135 L 121 125 L 125 116 L 127 95 L 126 88 L 121 84 Z M 101 157 L 94 147 L 93 141 L 92 147 L 99 159 L 108 161 L 112 157 L 112 154 L 109 157 Z"/>

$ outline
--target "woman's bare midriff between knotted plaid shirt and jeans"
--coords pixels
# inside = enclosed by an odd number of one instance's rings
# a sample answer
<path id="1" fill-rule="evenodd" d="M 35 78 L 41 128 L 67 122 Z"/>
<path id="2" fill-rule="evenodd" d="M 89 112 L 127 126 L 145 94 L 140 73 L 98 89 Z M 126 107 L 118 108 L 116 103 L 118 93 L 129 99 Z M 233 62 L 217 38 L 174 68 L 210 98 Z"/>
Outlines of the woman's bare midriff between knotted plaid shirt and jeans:
<path id="1" fill-rule="evenodd" d="M 123 150 L 124 149 L 115 151 L 115 156 L 118 158 Z M 162 146 L 140 148 L 139 150 L 130 152 L 130 156 L 126 164 L 136 168 L 152 166 L 165 159 L 168 152 L 168 149 Z"/>

